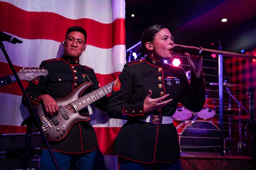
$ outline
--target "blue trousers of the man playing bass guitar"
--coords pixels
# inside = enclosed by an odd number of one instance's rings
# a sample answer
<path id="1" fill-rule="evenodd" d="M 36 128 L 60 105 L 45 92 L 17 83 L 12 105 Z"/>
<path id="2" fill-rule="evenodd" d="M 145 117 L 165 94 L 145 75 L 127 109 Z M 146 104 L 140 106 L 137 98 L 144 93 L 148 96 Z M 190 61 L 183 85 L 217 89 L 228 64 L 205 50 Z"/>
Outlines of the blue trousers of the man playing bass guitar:
<path id="1" fill-rule="evenodd" d="M 81 154 L 68 154 L 56 151 L 53 151 L 53 153 L 61 170 L 68 170 L 70 165 L 72 165 L 72 167 L 75 167 L 76 169 L 106 170 L 104 156 L 101 153 L 100 149 Z M 42 149 L 42 155 L 40 159 L 40 167 L 37 169 L 55 169 L 55 164 L 53 163 L 48 150 Z"/>

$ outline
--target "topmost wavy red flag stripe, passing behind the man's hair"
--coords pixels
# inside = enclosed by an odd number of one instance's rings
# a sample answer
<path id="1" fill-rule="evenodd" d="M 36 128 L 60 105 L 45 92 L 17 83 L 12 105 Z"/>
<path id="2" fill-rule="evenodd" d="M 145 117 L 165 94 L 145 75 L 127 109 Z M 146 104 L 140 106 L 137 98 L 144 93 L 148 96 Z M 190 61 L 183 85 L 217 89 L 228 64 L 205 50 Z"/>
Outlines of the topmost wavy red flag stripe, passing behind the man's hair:
<path id="1" fill-rule="evenodd" d="M 125 45 L 125 19 L 110 24 L 87 18 L 73 20 L 53 12 L 25 11 L 6 2 L 0 2 L 0 16 L 0 30 L 21 38 L 62 42 L 67 28 L 76 25 L 88 32 L 87 45 L 100 48 Z"/>

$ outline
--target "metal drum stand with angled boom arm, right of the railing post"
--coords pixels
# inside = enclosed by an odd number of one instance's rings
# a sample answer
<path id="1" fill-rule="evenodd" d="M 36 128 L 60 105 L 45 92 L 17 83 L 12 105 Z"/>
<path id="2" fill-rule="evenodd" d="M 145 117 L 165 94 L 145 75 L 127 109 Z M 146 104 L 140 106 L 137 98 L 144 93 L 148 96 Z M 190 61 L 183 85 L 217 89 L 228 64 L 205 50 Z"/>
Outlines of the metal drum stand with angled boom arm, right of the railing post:
<path id="1" fill-rule="evenodd" d="M 241 149 L 242 149 L 242 145 L 243 146 L 246 146 L 247 144 L 242 142 L 242 134 L 241 134 L 241 107 L 248 113 L 248 111 L 242 106 L 242 103 L 239 102 L 231 93 L 230 93 L 230 89 L 226 86 L 226 90 L 229 94 L 229 96 L 231 96 L 238 104 L 238 108 L 239 108 L 239 111 L 238 111 L 238 119 L 239 119 L 239 125 L 238 125 L 238 130 L 239 130 L 239 141 L 237 142 L 238 144 L 238 148 L 237 148 L 237 151 L 238 153 L 241 153 Z M 231 122 L 230 122 L 231 123 Z"/>

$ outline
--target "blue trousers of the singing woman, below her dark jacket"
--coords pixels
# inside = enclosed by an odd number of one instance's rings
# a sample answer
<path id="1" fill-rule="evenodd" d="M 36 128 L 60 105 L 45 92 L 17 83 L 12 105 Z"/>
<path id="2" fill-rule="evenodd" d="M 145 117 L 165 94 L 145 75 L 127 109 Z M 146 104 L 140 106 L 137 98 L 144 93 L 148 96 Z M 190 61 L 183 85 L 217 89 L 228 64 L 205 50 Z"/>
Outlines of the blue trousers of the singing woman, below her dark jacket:
<path id="1" fill-rule="evenodd" d="M 175 162 L 142 163 L 118 156 L 119 170 L 182 170 L 180 160 Z"/>

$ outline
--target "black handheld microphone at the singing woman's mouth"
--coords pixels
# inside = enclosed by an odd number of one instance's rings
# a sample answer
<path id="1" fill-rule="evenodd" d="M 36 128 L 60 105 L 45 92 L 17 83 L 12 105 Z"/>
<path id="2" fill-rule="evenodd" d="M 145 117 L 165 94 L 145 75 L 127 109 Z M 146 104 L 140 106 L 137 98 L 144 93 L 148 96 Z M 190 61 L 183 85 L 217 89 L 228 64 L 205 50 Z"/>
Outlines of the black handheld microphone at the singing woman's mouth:
<path id="1" fill-rule="evenodd" d="M 182 47 L 182 46 L 179 46 L 179 45 L 173 47 L 173 52 L 177 53 L 177 54 L 188 53 L 188 54 L 191 54 L 191 55 L 201 55 L 201 56 L 211 54 L 211 51 L 186 48 L 186 47 Z"/>

